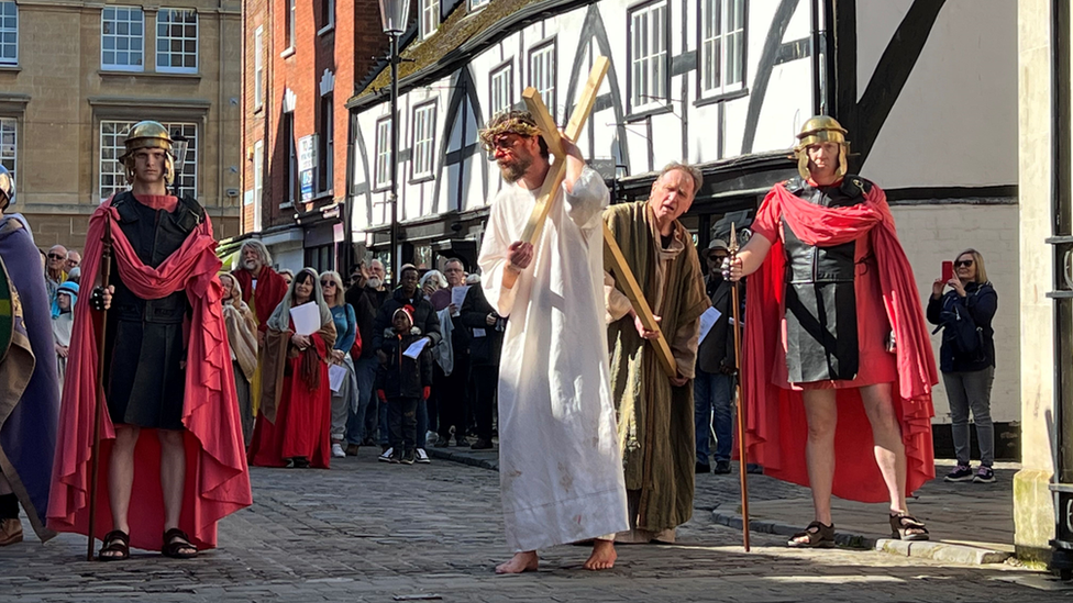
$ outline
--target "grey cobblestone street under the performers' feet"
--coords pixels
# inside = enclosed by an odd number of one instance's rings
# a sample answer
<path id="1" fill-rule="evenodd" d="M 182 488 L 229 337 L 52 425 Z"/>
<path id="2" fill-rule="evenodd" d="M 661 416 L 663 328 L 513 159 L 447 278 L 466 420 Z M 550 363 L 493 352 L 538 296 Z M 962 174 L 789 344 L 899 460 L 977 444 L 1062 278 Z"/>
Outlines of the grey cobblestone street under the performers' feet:
<path id="1" fill-rule="evenodd" d="M 737 480 L 704 476 L 693 521 L 675 546 L 620 546 L 615 570 L 580 569 L 588 549 L 541 551 L 538 573 L 497 577 L 507 557 L 495 471 L 442 460 L 379 464 L 374 450 L 330 471 L 252 471 L 252 507 L 220 526 L 221 548 L 193 561 L 136 551 L 131 561 L 84 560 L 63 535 L 0 550 L 0 599 L 36 601 L 1044 601 L 1013 566 L 967 567 L 889 554 L 793 551 L 712 523 L 706 510 L 738 495 Z M 770 478 L 756 500 L 785 496 Z M 724 488 L 723 488 L 724 484 Z M 724 499 L 724 500 L 723 500 Z"/>

